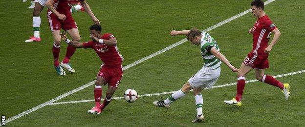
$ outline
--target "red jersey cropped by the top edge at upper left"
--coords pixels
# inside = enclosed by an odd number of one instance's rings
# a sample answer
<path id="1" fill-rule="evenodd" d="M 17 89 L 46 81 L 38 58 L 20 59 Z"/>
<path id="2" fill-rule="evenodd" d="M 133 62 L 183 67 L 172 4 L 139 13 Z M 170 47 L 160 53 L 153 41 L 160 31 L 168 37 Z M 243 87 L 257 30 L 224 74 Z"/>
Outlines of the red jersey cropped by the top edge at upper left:
<path id="1" fill-rule="evenodd" d="M 85 0 L 54 0 L 54 8 L 60 14 L 64 14 L 66 17 L 71 16 L 70 9 L 73 5 L 77 4 L 79 1 Z M 50 9 L 47 10 L 47 15 L 54 15 Z M 54 15 L 55 16 L 55 15 Z"/>

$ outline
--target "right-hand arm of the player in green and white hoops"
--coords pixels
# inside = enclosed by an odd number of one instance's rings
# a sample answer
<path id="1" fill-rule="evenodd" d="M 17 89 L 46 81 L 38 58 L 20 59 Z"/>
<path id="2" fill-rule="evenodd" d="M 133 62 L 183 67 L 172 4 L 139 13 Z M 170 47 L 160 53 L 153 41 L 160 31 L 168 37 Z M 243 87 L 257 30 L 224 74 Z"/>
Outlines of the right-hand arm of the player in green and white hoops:
<path id="1" fill-rule="evenodd" d="M 222 63 L 226 64 L 233 72 L 237 72 L 238 69 L 235 68 L 235 66 L 231 65 L 231 63 L 228 61 L 228 59 L 222 55 L 220 52 L 218 52 L 218 50 L 213 47 L 213 46 L 209 46 L 207 48 L 208 52 L 211 52 L 215 57 L 217 57 Z"/>

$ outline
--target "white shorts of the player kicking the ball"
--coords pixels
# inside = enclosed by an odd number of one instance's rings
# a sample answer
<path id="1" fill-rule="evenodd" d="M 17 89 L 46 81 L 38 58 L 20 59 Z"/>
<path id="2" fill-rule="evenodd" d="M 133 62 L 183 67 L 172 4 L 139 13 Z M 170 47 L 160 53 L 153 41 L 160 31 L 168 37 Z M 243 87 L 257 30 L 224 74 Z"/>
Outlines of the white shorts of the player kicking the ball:
<path id="1" fill-rule="evenodd" d="M 220 67 L 211 70 L 203 66 L 188 82 L 193 88 L 201 87 L 202 89 L 211 89 L 218 80 L 219 75 Z"/>

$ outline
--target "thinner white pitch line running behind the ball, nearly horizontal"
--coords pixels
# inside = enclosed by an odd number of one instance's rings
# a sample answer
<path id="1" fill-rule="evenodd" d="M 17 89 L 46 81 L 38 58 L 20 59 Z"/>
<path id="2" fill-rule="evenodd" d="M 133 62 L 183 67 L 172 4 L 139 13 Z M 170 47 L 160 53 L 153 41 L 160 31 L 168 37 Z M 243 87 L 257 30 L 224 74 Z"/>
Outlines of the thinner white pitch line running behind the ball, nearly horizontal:
<path id="1" fill-rule="evenodd" d="M 301 70 L 301 71 L 291 72 L 291 73 L 277 75 L 277 76 L 273 76 L 273 77 L 274 78 L 280 78 L 280 77 L 300 74 L 300 73 L 304 73 L 304 72 L 305 72 L 305 70 Z M 252 82 L 258 82 L 258 80 L 249 80 L 249 81 L 246 81 L 246 83 L 252 83 Z M 237 85 L 237 83 L 231 83 L 231 84 L 225 84 L 225 85 L 216 85 L 216 86 L 213 86 L 212 88 L 220 88 L 220 87 L 226 87 L 226 86 L 231 86 L 231 85 Z M 205 88 L 205 89 L 207 89 L 207 88 Z M 192 91 L 193 91 L 193 89 L 192 89 Z M 172 94 L 174 92 L 176 92 L 176 91 L 163 92 L 163 93 L 143 94 L 143 95 L 139 95 L 138 97 L 147 97 L 147 96 L 157 96 L 157 95 L 164 95 L 164 94 Z M 112 99 L 123 99 L 123 98 L 124 97 L 114 97 Z M 49 105 L 74 104 L 74 103 L 83 103 L 83 102 L 94 102 L 94 100 L 80 100 L 80 101 L 70 101 L 70 102 L 58 102 L 58 103 L 52 103 L 52 104 L 49 104 Z"/>

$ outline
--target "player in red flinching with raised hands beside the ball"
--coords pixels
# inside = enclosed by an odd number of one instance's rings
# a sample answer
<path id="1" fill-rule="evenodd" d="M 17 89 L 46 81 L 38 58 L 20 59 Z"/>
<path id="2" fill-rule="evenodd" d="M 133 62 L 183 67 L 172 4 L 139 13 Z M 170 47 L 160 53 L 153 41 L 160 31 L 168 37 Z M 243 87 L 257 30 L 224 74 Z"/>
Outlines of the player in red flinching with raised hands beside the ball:
<path id="1" fill-rule="evenodd" d="M 106 33 L 102 35 L 102 27 L 99 24 L 90 26 L 90 42 L 70 41 L 61 34 L 62 40 L 71 46 L 78 48 L 93 48 L 96 54 L 100 57 L 103 64 L 96 76 L 94 86 L 95 106 L 88 110 L 92 114 L 100 114 L 112 100 L 112 95 L 117 89 L 123 76 L 123 57 L 120 55 L 117 48 L 117 41 L 112 34 Z M 102 97 L 102 85 L 108 84 L 106 96 L 102 105 L 100 105 Z"/>

